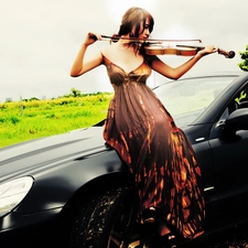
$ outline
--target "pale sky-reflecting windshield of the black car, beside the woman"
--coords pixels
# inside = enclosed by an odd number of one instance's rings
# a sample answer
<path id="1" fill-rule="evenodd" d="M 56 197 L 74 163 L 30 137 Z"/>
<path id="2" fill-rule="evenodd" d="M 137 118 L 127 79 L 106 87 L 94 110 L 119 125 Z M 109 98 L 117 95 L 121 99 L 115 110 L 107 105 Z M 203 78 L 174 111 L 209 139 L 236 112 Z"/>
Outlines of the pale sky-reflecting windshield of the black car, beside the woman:
<path id="1" fill-rule="evenodd" d="M 158 86 L 154 93 L 179 127 L 192 123 L 235 77 L 197 77 Z"/>

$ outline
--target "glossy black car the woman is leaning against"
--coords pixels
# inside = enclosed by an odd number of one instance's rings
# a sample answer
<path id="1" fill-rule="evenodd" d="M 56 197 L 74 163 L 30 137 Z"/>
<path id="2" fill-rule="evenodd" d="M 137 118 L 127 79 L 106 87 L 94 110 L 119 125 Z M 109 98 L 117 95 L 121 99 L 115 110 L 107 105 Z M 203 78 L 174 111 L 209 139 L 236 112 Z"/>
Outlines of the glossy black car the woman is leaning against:
<path id="1" fill-rule="evenodd" d="M 248 74 L 183 78 L 154 93 L 186 133 L 202 169 L 201 238 L 246 222 Z M 132 175 L 106 145 L 103 125 L 0 149 L 1 248 L 144 247 Z"/>

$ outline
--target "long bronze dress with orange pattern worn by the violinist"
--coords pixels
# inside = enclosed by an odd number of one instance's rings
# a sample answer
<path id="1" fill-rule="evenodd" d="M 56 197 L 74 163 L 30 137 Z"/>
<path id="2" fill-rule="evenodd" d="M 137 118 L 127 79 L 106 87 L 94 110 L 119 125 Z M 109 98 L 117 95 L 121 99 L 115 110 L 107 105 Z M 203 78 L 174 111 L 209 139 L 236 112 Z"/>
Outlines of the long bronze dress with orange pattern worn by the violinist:
<path id="1" fill-rule="evenodd" d="M 149 63 L 125 72 L 103 55 L 103 64 L 115 89 L 104 138 L 134 174 L 140 212 L 160 208 L 180 235 L 197 237 L 205 217 L 201 170 L 185 134 L 145 84 Z"/>

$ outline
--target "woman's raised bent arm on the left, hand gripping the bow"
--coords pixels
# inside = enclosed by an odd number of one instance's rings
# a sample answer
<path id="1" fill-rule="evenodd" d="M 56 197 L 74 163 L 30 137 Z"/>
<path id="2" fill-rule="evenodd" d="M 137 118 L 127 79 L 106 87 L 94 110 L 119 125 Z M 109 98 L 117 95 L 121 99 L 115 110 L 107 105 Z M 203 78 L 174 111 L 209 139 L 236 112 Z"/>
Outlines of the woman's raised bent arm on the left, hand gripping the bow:
<path id="1" fill-rule="evenodd" d="M 89 45 L 95 43 L 97 40 L 100 40 L 100 35 L 88 33 L 85 42 L 82 44 L 77 56 L 73 63 L 73 66 L 71 68 L 71 76 L 72 77 L 78 77 L 83 75 L 84 73 L 87 73 L 88 71 L 99 66 L 101 64 L 101 53 L 98 52 L 87 61 L 85 61 L 85 53 Z"/>

